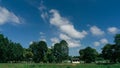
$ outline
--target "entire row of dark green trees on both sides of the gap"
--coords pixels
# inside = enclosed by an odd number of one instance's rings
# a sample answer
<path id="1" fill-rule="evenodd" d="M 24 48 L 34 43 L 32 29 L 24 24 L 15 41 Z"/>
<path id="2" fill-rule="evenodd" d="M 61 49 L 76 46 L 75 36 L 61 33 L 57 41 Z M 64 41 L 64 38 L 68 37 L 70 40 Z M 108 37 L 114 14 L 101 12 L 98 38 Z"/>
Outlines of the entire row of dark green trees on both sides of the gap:
<path id="1" fill-rule="evenodd" d="M 96 61 L 108 61 L 109 63 L 120 62 L 120 34 L 114 38 L 115 44 L 106 44 L 101 53 L 92 47 L 79 50 L 81 61 L 91 63 Z M 28 48 L 23 48 L 20 43 L 15 43 L 0 34 L 0 63 L 35 62 L 35 63 L 62 63 L 72 60 L 69 56 L 68 43 L 61 40 L 48 48 L 45 41 L 34 41 Z"/>

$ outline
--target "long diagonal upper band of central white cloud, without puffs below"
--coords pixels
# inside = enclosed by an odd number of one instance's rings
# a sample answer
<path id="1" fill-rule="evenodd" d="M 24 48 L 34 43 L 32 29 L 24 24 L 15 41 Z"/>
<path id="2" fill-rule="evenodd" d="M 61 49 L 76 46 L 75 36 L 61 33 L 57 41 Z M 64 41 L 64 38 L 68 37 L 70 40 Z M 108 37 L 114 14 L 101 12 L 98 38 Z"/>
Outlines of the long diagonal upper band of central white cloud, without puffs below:
<path id="1" fill-rule="evenodd" d="M 76 30 L 68 19 L 60 16 L 57 10 L 52 9 L 50 10 L 50 13 L 52 13 L 52 17 L 50 18 L 50 23 L 58 27 L 61 32 L 67 34 L 72 38 L 77 38 L 77 39 L 82 39 L 87 35 L 87 32 L 84 30 L 82 32 Z"/>

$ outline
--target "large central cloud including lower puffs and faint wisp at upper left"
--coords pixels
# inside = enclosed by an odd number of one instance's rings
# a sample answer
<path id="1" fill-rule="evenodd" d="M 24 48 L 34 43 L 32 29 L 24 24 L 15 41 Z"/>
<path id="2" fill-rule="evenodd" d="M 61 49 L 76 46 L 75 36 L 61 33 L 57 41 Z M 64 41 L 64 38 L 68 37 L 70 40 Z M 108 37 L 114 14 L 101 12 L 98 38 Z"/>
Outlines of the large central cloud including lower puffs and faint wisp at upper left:
<path id="1" fill-rule="evenodd" d="M 47 8 L 43 5 L 43 2 L 41 2 L 39 9 L 41 11 L 41 18 L 45 22 L 48 21 L 51 25 L 59 29 L 59 37 L 51 38 L 53 44 L 58 43 L 59 40 L 66 40 L 69 47 L 78 47 L 81 45 L 80 40 L 86 37 L 87 31 L 76 30 L 72 22 L 61 16 L 58 10 L 51 9 L 47 11 Z"/>

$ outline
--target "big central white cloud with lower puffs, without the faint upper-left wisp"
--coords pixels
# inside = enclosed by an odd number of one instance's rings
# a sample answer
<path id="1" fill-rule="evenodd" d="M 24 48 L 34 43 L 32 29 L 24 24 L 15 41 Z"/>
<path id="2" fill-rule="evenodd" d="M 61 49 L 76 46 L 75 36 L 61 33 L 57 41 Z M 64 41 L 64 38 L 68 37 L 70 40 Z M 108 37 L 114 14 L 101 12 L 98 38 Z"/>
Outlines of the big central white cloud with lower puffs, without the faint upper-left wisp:
<path id="1" fill-rule="evenodd" d="M 52 9 L 50 10 L 50 13 L 52 14 L 50 17 L 50 24 L 56 26 L 60 30 L 59 38 L 61 40 L 66 40 L 69 44 L 69 47 L 79 47 L 80 39 L 84 38 L 87 35 L 87 32 L 85 30 L 78 31 L 75 29 L 74 25 L 72 25 L 67 18 L 64 18 L 60 15 L 60 13 Z"/>

